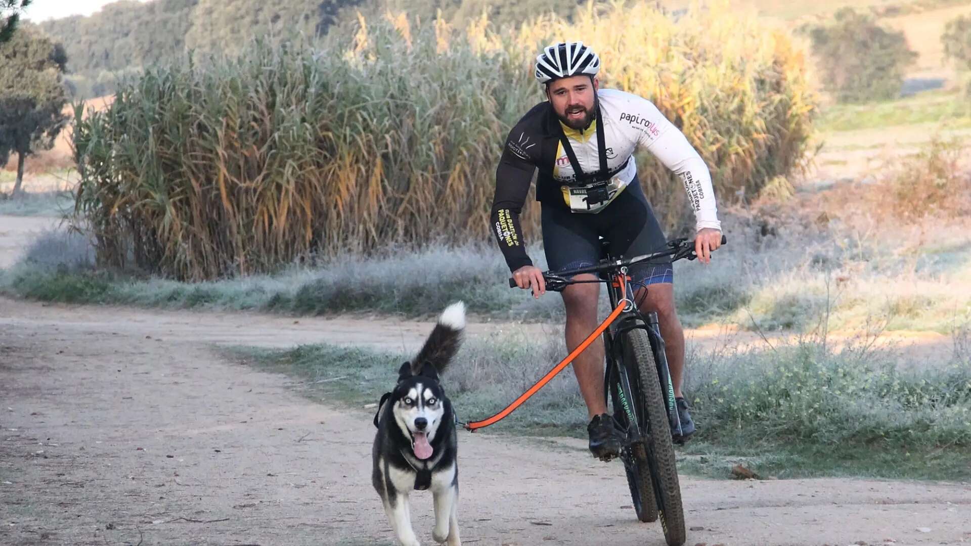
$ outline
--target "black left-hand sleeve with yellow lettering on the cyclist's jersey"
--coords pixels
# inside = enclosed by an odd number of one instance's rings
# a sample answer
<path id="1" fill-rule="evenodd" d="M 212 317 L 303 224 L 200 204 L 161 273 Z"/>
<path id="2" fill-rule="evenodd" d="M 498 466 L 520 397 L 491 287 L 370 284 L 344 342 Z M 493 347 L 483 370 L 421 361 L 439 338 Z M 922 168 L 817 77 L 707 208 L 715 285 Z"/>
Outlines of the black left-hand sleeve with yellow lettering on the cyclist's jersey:
<path id="1" fill-rule="evenodd" d="M 510 271 L 533 264 L 529 256 L 526 256 L 519 214 L 526 202 L 535 169 L 535 162 L 529 154 L 517 146 L 512 138 L 507 139 L 499 166 L 495 170 L 495 196 L 492 199 L 489 220 Z"/>

